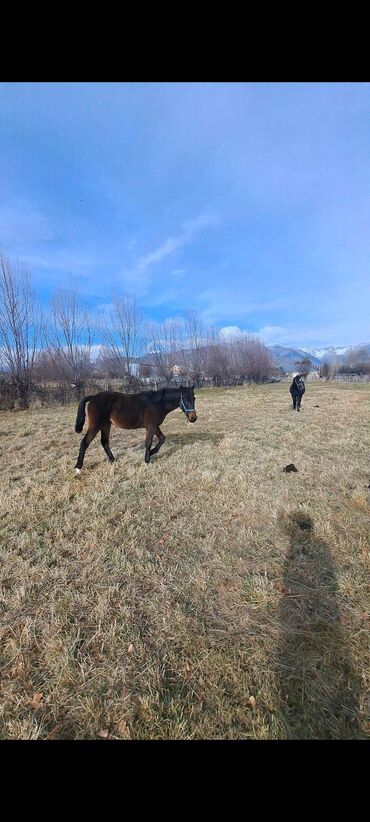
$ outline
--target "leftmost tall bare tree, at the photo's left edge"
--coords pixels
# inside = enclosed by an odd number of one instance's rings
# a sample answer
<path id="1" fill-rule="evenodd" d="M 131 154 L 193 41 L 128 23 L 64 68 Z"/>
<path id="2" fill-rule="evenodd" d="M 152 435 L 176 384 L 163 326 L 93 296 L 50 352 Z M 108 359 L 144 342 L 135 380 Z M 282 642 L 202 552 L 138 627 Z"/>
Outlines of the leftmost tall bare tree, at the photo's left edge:
<path id="1" fill-rule="evenodd" d="M 29 406 L 42 331 L 28 269 L 0 252 L 0 360 L 22 408 Z"/>

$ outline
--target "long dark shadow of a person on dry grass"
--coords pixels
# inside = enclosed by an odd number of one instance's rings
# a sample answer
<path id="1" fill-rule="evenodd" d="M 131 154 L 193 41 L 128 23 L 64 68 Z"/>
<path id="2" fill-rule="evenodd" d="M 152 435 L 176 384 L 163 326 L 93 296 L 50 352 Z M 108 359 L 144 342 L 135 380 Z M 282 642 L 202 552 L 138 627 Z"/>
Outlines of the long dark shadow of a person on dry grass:
<path id="1" fill-rule="evenodd" d="M 360 678 L 346 647 L 330 551 L 311 517 L 282 514 L 290 546 L 284 563 L 277 653 L 280 707 L 287 739 L 360 739 Z"/>

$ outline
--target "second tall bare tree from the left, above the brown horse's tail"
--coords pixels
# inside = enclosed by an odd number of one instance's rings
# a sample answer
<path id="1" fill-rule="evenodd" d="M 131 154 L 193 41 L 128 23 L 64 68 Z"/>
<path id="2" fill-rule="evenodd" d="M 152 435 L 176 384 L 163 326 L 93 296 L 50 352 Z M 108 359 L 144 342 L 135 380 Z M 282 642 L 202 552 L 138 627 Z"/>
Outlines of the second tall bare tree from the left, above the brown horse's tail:
<path id="1" fill-rule="evenodd" d="M 92 323 L 72 282 L 59 289 L 51 303 L 48 356 L 55 379 L 74 389 L 77 398 L 92 374 Z"/>

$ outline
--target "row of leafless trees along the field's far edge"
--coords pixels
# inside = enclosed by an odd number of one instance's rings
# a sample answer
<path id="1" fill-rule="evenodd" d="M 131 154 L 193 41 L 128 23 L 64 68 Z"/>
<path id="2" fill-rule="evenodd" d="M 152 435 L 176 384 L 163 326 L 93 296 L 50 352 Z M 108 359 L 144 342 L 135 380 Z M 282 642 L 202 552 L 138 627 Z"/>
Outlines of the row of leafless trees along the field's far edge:
<path id="1" fill-rule="evenodd" d="M 222 385 L 264 380 L 274 364 L 258 339 L 223 339 L 193 311 L 148 323 L 134 298 L 114 295 L 110 309 L 94 317 L 72 283 L 43 312 L 29 271 L 0 254 L 0 370 L 3 388 L 11 386 L 26 408 L 45 384 L 69 386 L 79 398 L 99 376 L 118 377 L 131 390 L 151 376 Z"/>

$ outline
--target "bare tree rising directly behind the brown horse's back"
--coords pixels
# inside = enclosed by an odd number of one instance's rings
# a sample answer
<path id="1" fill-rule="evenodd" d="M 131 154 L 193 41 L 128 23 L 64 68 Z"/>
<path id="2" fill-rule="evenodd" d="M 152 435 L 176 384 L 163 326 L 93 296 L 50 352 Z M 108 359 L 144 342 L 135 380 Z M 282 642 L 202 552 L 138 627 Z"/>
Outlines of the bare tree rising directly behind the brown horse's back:
<path id="1" fill-rule="evenodd" d="M 144 325 L 135 297 L 113 295 L 112 308 L 103 318 L 101 333 L 106 354 L 115 363 L 116 371 L 127 383 L 136 382 L 133 360 L 143 350 Z"/>

